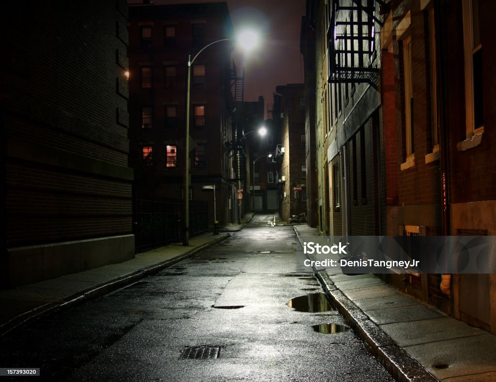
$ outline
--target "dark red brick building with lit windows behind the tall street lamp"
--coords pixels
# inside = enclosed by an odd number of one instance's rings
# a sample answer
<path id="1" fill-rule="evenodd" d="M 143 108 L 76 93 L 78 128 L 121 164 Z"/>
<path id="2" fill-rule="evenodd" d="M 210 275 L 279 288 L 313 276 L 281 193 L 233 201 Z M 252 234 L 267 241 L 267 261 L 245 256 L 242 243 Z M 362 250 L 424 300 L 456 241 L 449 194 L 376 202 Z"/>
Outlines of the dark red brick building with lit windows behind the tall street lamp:
<path id="1" fill-rule="evenodd" d="M 187 55 L 194 57 L 214 41 L 233 37 L 225 2 L 129 6 L 130 164 L 136 192 L 183 197 Z M 233 109 L 232 42 L 214 44 L 195 59 L 190 91 L 189 198 L 208 202 L 210 225 L 232 219 Z"/>

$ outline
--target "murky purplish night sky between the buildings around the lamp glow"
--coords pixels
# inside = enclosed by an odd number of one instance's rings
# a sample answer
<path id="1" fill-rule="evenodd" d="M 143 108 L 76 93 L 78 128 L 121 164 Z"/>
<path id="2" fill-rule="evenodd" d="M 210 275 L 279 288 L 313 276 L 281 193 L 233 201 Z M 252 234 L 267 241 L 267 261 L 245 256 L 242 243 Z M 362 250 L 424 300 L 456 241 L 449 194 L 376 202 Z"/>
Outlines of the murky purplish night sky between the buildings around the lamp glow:
<path id="1" fill-rule="evenodd" d="M 141 1 L 129 1 L 140 3 Z M 212 0 L 155 0 L 155 4 L 215 2 Z M 238 67 L 245 67 L 245 101 L 258 96 L 272 104 L 276 85 L 303 82 L 300 29 L 305 0 L 227 0 L 235 33 L 253 26 L 260 31 L 260 45 L 245 54 L 233 52 Z"/>

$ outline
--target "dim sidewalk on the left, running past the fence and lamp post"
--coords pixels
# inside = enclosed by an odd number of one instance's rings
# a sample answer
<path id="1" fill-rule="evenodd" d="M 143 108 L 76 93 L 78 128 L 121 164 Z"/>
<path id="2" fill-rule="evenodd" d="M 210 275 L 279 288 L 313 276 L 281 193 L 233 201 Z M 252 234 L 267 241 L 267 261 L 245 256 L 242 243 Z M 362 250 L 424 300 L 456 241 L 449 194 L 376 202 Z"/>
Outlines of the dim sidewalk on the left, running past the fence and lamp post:
<path id="1" fill-rule="evenodd" d="M 124 263 L 67 274 L 15 289 L 0 291 L 0 336 L 40 315 L 102 296 L 169 267 L 229 237 L 205 233 L 189 239 L 189 246 L 171 244 L 140 253 Z"/>

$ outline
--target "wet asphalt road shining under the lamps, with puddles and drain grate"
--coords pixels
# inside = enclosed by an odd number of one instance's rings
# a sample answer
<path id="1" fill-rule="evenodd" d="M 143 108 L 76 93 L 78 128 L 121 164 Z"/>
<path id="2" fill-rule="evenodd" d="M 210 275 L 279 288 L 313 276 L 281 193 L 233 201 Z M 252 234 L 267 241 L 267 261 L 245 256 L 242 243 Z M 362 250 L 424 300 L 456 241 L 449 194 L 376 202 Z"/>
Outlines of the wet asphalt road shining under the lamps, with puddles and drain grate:
<path id="1" fill-rule="evenodd" d="M 45 381 L 393 381 L 353 331 L 313 330 L 346 329 L 336 311 L 286 305 L 321 289 L 291 227 L 271 221 L 257 215 L 195 257 L 10 332 L 0 367 L 40 367 Z M 186 346 L 218 358 L 182 359 Z"/>

